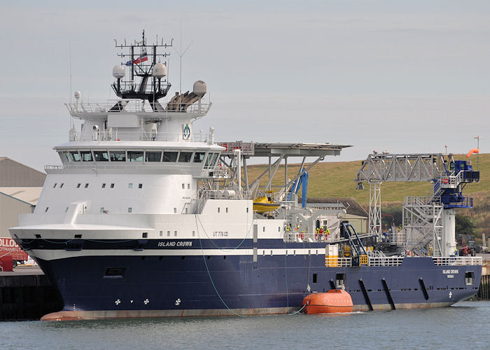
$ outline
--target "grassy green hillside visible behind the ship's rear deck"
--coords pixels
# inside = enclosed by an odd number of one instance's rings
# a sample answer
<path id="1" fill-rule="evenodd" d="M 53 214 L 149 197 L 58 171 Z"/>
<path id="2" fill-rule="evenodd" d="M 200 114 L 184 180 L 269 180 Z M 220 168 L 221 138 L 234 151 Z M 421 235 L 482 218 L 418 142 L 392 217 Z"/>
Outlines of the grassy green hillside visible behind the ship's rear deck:
<path id="1" fill-rule="evenodd" d="M 465 155 L 455 155 L 455 159 L 467 159 Z M 471 161 L 474 169 L 477 167 L 477 156 L 472 155 Z M 460 214 L 465 214 L 477 221 L 477 227 L 487 235 L 490 233 L 490 154 L 480 154 L 478 159 L 480 181 L 470 183 L 463 190 L 464 195 L 474 197 L 473 209 L 461 209 Z M 361 161 L 353 162 L 320 162 L 309 171 L 309 197 L 353 197 L 357 202 L 367 208 L 369 205 L 369 185 L 365 184 L 365 190 L 356 190 L 356 177 Z M 288 178 L 297 174 L 300 164 L 288 165 Z M 248 166 L 248 179 L 253 181 L 267 169 L 267 165 Z M 260 186 L 265 186 L 267 174 L 261 179 Z M 276 172 L 273 186 L 281 186 L 284 183 L 284 167 L 281 165 Z M 383 207 L 400 205 L 403 198 L 408 195 L 426 195 L 432 185 L 430 183 L 383 183 L 381 185 L 381 211 Z"/>

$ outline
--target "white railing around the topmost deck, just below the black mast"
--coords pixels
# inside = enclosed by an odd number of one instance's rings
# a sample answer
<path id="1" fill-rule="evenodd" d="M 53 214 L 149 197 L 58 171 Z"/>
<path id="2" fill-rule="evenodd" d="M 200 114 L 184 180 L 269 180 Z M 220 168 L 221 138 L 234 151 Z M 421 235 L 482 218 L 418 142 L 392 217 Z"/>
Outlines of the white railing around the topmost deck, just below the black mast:
<path id="1" fill-rule="evenodd" d="M 65 104 L 70 113 L 167 113 L 166 104 L 153 104 L 142 99 L 110 100 L 109 102 L 74 102 Z M 169 113 L 208 113 L 211 102 L 195 102 L 187 106 L 186 111 L 168 111 Z"/>

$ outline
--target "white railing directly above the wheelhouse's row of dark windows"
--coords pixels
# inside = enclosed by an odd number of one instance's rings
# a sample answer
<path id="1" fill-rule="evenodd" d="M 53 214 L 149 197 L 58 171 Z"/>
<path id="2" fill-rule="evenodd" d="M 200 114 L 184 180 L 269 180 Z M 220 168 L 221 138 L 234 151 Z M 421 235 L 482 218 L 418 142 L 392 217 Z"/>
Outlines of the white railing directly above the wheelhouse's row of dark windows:
<path id="1" fill-rule="evenodd" d="M 183 134 L 183 132 L 118 132 L 112 131 L 87 131 L 76 132 L 70 130 L 69 141 L 187 141 L 187 142 L 207 142 L 209 134 L 193 132 Z"/>

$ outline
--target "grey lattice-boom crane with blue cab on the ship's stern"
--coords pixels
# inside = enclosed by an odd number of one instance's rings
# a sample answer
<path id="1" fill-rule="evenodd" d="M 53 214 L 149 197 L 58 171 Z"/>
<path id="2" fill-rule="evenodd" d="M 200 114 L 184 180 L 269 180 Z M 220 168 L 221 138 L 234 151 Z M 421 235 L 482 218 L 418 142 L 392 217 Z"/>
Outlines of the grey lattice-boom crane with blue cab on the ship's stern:
<path id="1" fill-rule="evenodd" d="M 405 197 L 402 207 L 407 249 L 418 255 L 449 256 L 456 251 L 456 208 L 471 208 L 463 196 L 467 183 L 479 181 L 468 160 L 454 160 L 442 153 L 373 153 L 362 162 L 355 181 L 370 185 L 370 234 L 381 237 L 381 183 L 430 181 L 433 188 L 423 197 Z"/>

